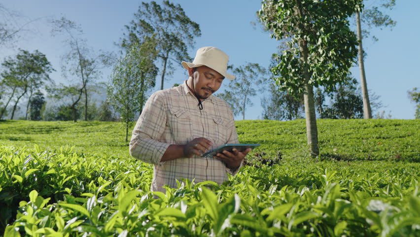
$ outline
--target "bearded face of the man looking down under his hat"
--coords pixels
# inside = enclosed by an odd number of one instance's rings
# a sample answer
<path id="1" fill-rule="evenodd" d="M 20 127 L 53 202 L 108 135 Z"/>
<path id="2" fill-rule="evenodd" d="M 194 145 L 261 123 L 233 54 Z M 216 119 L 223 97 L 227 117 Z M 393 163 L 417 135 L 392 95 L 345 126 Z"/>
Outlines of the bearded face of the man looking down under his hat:
<path id="1" fill-rule="evenodd" d="M 199 99 L 207 99 L 216 92 L 222 85 L 223 77 L 213 69 L 201 66 L 197 67 L 195 72 L 193 68 L 188 69 L 188 74 L 194 80 L 195 93 Z"/>

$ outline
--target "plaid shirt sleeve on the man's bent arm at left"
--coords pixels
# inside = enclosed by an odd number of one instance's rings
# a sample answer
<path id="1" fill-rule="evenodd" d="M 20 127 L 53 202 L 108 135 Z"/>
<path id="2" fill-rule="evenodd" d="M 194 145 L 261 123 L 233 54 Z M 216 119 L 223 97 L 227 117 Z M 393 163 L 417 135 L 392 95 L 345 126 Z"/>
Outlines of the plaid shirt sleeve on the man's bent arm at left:
<path id="1" fill-rule="evenodd" d="M 130 155 L 146 163 L 162 165 L 161 158 L 170 144 L 159 142 L 166 126 L 166 106 L 159 91 L 144 105 L 130 140 Z"/>

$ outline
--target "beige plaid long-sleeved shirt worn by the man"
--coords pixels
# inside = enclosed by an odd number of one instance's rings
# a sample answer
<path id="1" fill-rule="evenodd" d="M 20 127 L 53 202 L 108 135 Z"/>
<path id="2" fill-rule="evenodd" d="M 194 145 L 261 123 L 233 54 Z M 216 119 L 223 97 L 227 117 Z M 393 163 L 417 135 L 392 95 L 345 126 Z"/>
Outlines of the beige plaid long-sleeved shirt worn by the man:
<path id="1" fill-rule="evenodd" d="M 165 193 L 163 185 L 176 188 L 176 179 L 195 182 L 228 180 L 227 173 L 235 175 L 226 165 L 214 158 L 178 158 L 160 162 L 171 144 L 184 145 L 194 138 L 209 139 L 213 150 L 226 143 L 239 143 L 234 117 L 228 104 L 213 95 L 202 102 L 199 110 L 196 97 L 186 81 L 170 89 L 153 93 L 133 130 L 130 154 L 154 164 L 152 191 Z"/>

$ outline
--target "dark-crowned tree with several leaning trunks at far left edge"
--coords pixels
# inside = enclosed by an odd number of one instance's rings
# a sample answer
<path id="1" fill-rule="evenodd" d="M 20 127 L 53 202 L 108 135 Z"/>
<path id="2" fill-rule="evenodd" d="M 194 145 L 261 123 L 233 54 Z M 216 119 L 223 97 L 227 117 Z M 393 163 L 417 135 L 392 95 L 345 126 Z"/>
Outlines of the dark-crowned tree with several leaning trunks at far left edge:
<path id="1" fill-rule="evenodd" d="M 49 73 L 54 69 L 51 67 L 51 63 L 47 60 L 45 55 L 38 50 L 35 50 L 34 53 L 30 53 L 29 51 L 20 49 L 16 58 L 8 57 L 1 65 L 5 69 L 1 73 L 1 77 L 3 78 L 1 84 L 8 88 L 9 99 L 0 111 L 0 118 L 4 115 L 12 98 L 15 98 L 15 104 L 10 118 L 13 119 L 20 99 L 30 91 L 27 106 L 28 112 L 34 88 L 39 88 L 44 81 L 49 81 Z"/>

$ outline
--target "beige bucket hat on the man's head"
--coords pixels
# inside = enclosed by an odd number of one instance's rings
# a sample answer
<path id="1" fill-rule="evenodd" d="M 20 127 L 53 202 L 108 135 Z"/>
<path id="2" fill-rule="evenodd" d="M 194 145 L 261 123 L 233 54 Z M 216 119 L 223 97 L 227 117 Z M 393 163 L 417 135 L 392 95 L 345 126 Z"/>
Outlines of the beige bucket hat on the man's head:
<path id="1" fill-rule="evenodd" d="M 197 50 L 197 54 L 192 63 L 182 61 L 181 64 L 187 70 L 188 68 L 207 66 L 220 73 L 223 77 L 234 80 L 236 77 L 226 72 L 228 61 L 229 56 L 222 50 L 216 47 L 202 47 Z"/>

